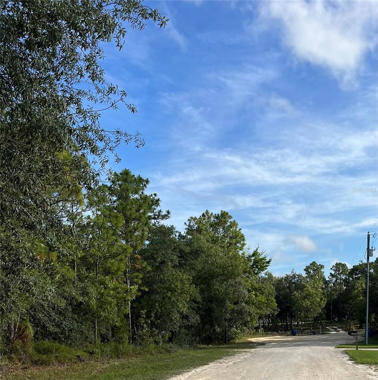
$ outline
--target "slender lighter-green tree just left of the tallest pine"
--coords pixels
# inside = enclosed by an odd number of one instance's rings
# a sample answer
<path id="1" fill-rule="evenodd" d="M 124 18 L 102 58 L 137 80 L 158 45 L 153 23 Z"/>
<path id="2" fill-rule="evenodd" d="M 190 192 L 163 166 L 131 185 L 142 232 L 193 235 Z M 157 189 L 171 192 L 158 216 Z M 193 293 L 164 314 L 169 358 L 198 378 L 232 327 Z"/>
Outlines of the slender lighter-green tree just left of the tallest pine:
<path id="1" fill-rule="evenodd" d="M 81 257 L 79 280 L 87 285 L 87 318 L 94 325 L 94 342 L 108 335 L 111 340 L 122 326 L 124 310 L 136 295 L 136 289 L 125 285 L 126 249 L 118 237 L 122 216 L 111 204 L 104 185 L 87 194 L 92 213 L 82 225 L 86 252 Z M 81 270 L 82 269 L 82 270 Z"/>

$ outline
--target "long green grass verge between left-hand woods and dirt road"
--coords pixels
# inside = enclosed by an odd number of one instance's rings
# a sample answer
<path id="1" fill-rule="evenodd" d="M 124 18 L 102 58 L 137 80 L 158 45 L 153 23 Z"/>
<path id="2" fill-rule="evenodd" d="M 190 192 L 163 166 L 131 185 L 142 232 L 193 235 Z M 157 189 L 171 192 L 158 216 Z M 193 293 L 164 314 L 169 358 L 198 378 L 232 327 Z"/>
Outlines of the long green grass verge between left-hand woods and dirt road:
<path id="1" fill-rule="evenodd" d="M 171 352 L 157 349 L 136 357 L 18 369 L 0 377 L 2 380 L 160 380 L 254 346 L 240 342 Z"/>

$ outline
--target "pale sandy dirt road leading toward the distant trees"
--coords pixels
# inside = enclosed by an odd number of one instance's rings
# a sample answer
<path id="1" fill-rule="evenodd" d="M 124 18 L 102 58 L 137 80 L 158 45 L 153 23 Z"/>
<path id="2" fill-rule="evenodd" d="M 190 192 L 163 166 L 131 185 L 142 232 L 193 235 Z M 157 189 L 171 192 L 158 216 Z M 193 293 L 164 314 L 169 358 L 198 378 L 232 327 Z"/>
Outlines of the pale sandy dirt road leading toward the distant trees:
<path id="1" fill-rule="evenodd" d="M 353 339 L 346 332 L 261 339 L 265 345 L 171 380 L 378 380 L 376 371 L 334 348 Z"/>

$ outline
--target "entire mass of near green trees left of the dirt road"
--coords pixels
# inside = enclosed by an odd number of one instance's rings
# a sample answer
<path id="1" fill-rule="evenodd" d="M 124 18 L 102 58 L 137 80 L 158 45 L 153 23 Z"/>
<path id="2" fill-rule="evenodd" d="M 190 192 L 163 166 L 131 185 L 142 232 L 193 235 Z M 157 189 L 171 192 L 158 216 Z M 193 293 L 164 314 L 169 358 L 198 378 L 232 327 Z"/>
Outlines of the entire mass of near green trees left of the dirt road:
<path id="1" fill-rule="evenodd" d="M 178 234 L 147 179 L 104 175 L 121 142 L 144 142 L 100 124 L 104 109 L 136 112 L 106 81 L 102 46 L 168 20 L 140 0 L 0 7 L 0 353 L 21 344 L 42 363 L 44 349 L 68 360 L 62 343 L 227 341 L 272 314 L 270 259 L 229 213 Z"/>

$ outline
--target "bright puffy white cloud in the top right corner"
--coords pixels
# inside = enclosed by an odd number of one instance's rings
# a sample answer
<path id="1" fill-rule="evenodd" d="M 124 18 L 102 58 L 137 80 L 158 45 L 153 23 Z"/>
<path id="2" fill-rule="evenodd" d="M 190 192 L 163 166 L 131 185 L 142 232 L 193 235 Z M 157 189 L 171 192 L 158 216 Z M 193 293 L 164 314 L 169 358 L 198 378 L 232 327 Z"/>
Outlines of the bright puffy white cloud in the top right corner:
<path id="1" fill-rule="evenodd" d="M 353 80 L 377 45 L 376 1 L 270 1 L 261 13 L 280 22 L 294 55 L 330 69 L 343 82 Z"/>

